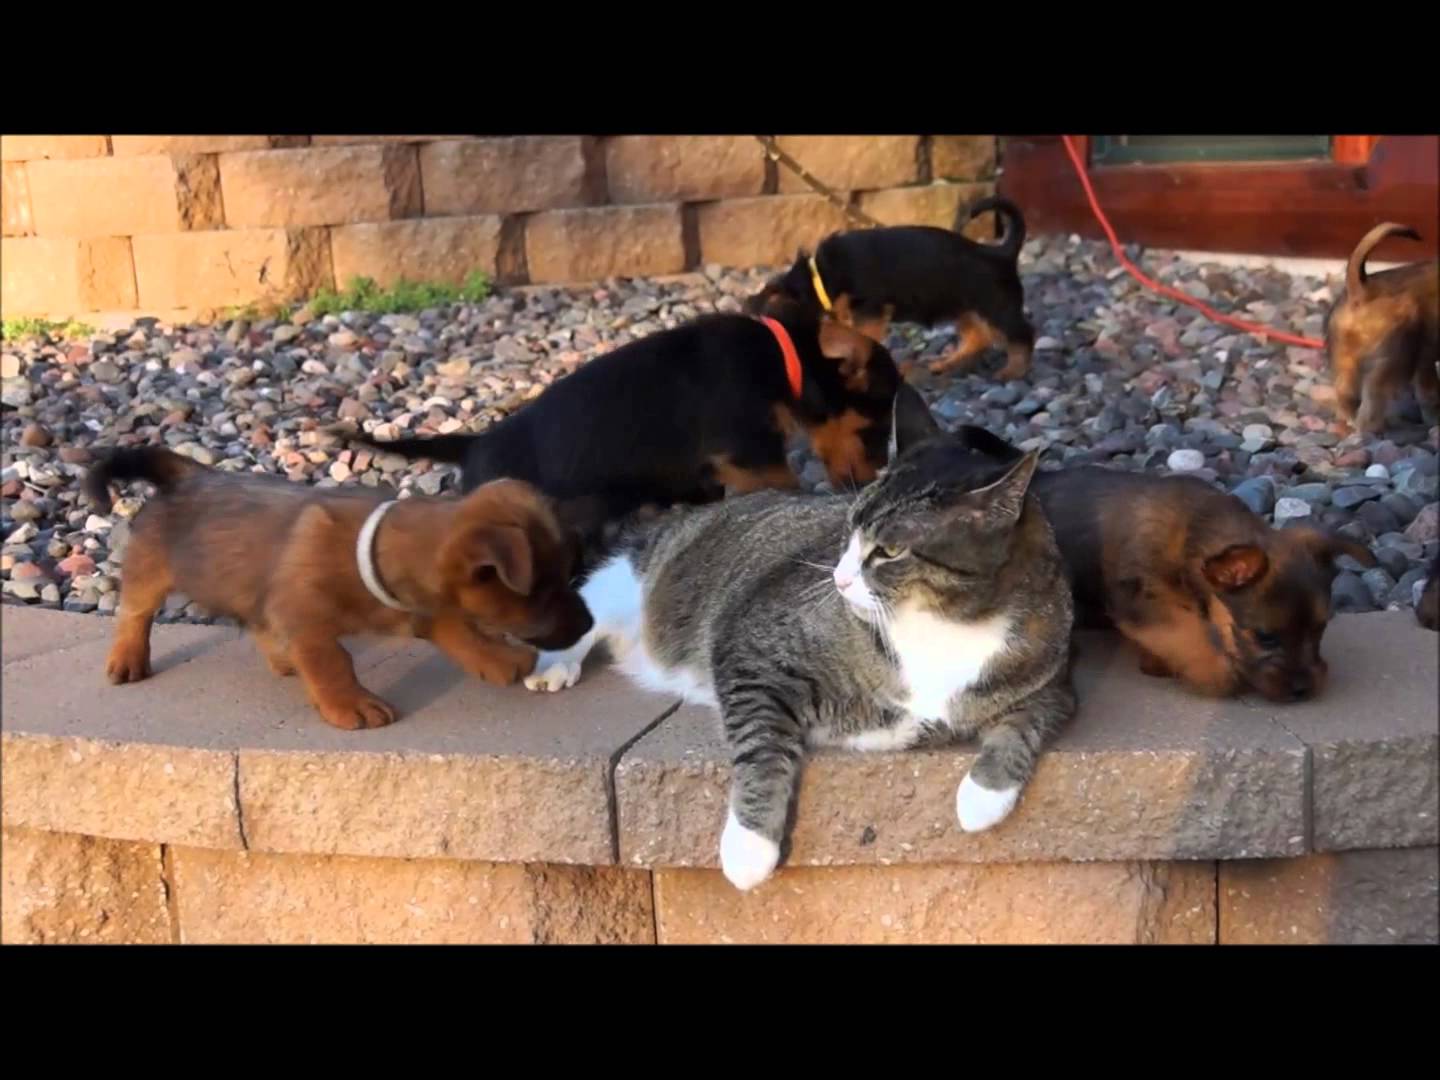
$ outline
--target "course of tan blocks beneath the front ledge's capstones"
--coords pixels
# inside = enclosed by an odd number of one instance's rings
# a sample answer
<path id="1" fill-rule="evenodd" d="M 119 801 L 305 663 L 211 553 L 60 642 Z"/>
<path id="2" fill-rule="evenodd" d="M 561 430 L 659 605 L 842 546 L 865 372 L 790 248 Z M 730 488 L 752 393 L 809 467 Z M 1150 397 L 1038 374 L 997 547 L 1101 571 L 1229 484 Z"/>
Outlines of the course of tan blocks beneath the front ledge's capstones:
<path id="1" fill-rule="evenodd" d="M 1437 852 L 717 870 L 0 831 L 6 945 L 1434 945 Z"/>

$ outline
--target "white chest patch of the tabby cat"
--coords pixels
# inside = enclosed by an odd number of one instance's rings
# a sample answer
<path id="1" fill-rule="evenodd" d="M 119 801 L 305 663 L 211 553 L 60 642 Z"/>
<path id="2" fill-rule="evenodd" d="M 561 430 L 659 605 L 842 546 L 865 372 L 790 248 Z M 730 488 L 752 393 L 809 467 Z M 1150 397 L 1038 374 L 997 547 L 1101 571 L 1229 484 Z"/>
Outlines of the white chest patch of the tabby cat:
<path id="1" fill-rule="evenodd" d="M 950 698 L 975 685 L 1009 648 L 1009 619 L 952 622 L 917 608 L 900 608 L 890 624 L 907 697 L 899 704 L 919 720 L 949 720 Z"/>

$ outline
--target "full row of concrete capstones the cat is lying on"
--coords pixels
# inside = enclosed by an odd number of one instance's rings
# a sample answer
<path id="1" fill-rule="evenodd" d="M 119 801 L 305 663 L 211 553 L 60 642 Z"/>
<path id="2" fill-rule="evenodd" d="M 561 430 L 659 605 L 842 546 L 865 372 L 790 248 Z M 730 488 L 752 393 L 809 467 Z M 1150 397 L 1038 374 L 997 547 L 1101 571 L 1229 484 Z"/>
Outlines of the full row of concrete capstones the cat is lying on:
<path id="1" fill-rule="evenodd" d="M 109 687 L 112 624 L 3 609 L 6 827 L 304 855 L 714 867 L 729 755 L 711 714 L 603 667 L 533 696 L 428 645 L 353 642 L 402 720 L 325 726 L 229 628 L 154 635 Z M 1081 639 L 1081 713 L 1011 821 L 953 822 L 968 749 L 822 753 L 792 867 L 1142 863 L 1436 844 L 1437 649 L 1408 612 L 1335 619 L 1315 703 L 1215 703 Z"/>

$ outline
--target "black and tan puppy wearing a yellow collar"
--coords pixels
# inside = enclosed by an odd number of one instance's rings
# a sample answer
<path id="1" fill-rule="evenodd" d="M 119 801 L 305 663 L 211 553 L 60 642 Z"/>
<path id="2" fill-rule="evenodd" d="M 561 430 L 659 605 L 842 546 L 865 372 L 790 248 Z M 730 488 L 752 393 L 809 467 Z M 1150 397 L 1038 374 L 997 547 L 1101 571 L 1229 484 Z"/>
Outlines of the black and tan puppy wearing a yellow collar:
<path id="1" fill-rule="evenodd" d="M 959 229 L 986 210 L 1005 220 L 1004 239 L 976 243 L 962 236 Z M 991 196 L 960 210 L 955 229 L 900 225 L 832 233 L 747 304 L 757 312 L 789 305 L 832 312 L 876 341 L 884 340 L 891 320 L 955 323 L 959 346 L 930 364 L 932 372 L 968 366 L 988 346 L 999 346 L 1007 363 L 996 377 L 1022 379 L 1035 344 L 1015 264 L 1024 242 L 1020 207 Z"/>

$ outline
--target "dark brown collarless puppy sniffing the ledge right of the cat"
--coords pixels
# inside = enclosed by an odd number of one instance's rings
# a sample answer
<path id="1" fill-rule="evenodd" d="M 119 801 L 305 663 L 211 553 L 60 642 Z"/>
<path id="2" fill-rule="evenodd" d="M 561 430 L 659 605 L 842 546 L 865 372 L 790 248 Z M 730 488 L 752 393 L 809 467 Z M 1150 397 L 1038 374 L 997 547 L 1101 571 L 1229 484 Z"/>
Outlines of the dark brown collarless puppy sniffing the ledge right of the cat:
<path id="1" fill-rule="evenodd" d="M 1272 528 L 1197 477 L 1081 467 L 1043 472 L 1032 490 L 1070 570 L 1077 625 L 1116 626 L 1142 671 L 1217 697 L 1251 688 L 1293 701 L 1325 687 L 1333 563 L 1374 566 L 1364 544 Z"/>

